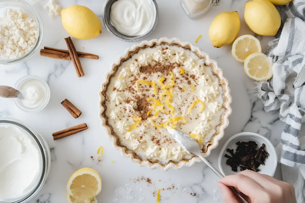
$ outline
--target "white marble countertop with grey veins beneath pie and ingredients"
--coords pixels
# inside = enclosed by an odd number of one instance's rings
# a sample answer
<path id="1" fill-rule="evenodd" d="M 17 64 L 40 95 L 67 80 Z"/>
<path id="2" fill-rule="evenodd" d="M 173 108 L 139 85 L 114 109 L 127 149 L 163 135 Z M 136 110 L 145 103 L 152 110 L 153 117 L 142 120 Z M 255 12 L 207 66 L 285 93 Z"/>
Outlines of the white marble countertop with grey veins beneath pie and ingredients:
<path id="1" fill-rule="evenodd" d="M 63 38 L 68 37 L 69 34 L 63 29 L 59 16 L 54 19 L 48 16 L 48 11 L 43 9 L 46 2 L 47 0 L 40 0 L 35 5 L 44 23 L 44 38 L 40 48 L 48 46 L 66 49 Z M 278 118 L 278 111 L 264 112 L 262 103 L 254 95 L 254 81 L 245 75 L 243 64 L 235 61 L 231 56 L 231 46 L 214 48 L 208 37 L 212 19 L 222 11 L 238 11 L 241 19 L 239 35 L 253 34 L 243 18 L 245 2 L 246 0 L 222 1 L 220 6 L 213 7 L 203 18 L 190 20 L 177 0 L 157 0 L 160 11 L 159 22 L 156 30 L 147 38 L 151 40 L 178 37 L 195 44 L 195 39 L 201 34 L 202 38 L 196 46 L 210 54 L 210 57 L 217 60 L 218 65 L 224 70 L 233 97 L 231 106 L 233 113 L 229 117 L 230 124 L 225 130 L 225 137 L 219 143 L 220 146 L 212 150 L 208 157 L 217 168 L 221 146 L 231 135 L 241 131 L 256 132 L 277 145 L 284 128 L 284 124 Z M 87 6 L 99 16 L 101 22 L 103 3 L 104 1 L 93 0 L 59 1 L 62 7 L 72 4 Z M 264 51 L 272 37 L 258 36 L 258 39 L 261 40 Z M 110 64 L 133 43 L 117 40 L 107 32 L 104 25 L 102 25 L 102 34 L 94 39 L 72 40 L 78 51 L 100 56 L 98 61 L 81 59 L 84 77 L 77 78 L 71 61 L 41 57 L 39 51 L 22 63 L 0 66 L 1 85 L 14 86 L 15 82 L 24 75 L 38 75 L 48 82 L 51 90 L 48 106 L 38 113 L 22 112 L 12 100 L 0 98 L 0 117 L 13 117 L 35 128 L 46 139 L 51 149 L 51 170 L 47 182 L 29 202 L 65 202 L 67 180 L 75 170 L 82 167 L 94 168 L 102 177 L 102 192 L 97 197 L 98 202 L 154 203 L 156 195 L 154 196 L 153 192 L 159 188 L 165 188 L 161 191 L 161 202 L 222 202 L 217 188 L 218 177 L 203 163 L 196 163 L 192 167 L 178 171 L 149 170 L 125 159 L 112 147 L 98 117 L 98 92 L 105 81 L 104 75 L 109 70 Z M 81 117 L 74 119 L 62 107 L 60 102 L 65 98 L 79 107 L 83 112 Z M 89 129 L 53 141 L 51 135 L 53 132 L 81 123 L 87 123 Z M 98 162 L 96 151 L 100 145 L 104 147 L 104 154 L 102 161 Z M 93 156 L 94 160 L 90 156 Z M 136 180 L 142 176 L 150 178 L 152 184 Z M 275 177 L 281 178 L 279 167 Z M 167 190 L 166 188 L 171 187 L 172 184 L 175 188 Z M 115 194 L 116 189 L 121 192 Z"/>

